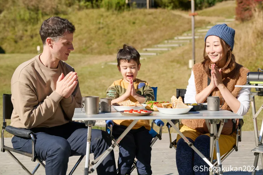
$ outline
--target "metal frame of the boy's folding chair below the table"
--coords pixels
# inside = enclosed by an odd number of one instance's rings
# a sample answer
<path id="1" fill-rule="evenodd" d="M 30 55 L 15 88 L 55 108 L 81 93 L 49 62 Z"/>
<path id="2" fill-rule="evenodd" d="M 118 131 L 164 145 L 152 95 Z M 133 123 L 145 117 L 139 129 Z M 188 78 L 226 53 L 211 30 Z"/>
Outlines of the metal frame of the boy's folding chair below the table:
<path id="1" fill-rule="evenodd" d="M 154 126 L 154 121 L 155 120 L 152 120 L 152 125 L 151 125 L 151 128 L 153 129 L 153 126 Z M 112 136 L 112 125 L 110 126 L 110 128 L 107 126 L 107 124 L 106 124 L 106 132 L 107 132 L 107 130 L 110 130 L 110 135 L 111 135 L 111 139 L 115 142 L 115 138 Z M 159 139 L 159 140 L 162 140 L 162 125 L 160 125 L 160 130 L 159 130 L 159 134 L 157 133 L 157 135 L 152 139 L 152 142 L 151 142 L 151 144 L 150 144 L 150 147 L 152 147 L 152 145 L 157 141 L 157 139 Z M 119 144 L 117 144 L 118 145 L 118 147 L 120 147 L 120 145 Z M 136 163 L 137 163 L 137 161 L 134 159 L 133 160 L 133 165 L 132 165 L 132 167 L 131 167 L 131 172 L 136 168 L 136 169 L 138 169 L 137 168 L 137 166 L 136 166 Z M 117 168 L 117 173 L 119 172 L 119 169 Z"/>

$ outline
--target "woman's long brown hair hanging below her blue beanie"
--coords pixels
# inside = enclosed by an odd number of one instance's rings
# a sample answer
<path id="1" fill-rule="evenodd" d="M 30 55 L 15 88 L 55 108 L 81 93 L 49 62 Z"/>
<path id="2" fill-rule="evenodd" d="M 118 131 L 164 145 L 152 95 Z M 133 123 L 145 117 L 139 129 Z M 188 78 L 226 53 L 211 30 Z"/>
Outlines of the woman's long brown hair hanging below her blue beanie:
<path id="1" fill-rule="evenodd" d="M 235 63 L 235 56 L 232 53 L 231 49 L 228 50 L 229 45 L 226 42 L 224 42 L 224 40 L 222 40 L 221 38 L 219 39 L 220 39 L 221 46 L 223 48 L 223 57 L 226 57 L 226 64 L 224 65 L 223 68 L 221 68 L 221 70 L 223 71 L 225 69 L 230 68 L 233 65 L 233 63 Z M 202 61 L 202 65 L 203 65 L 205 73 L 208 75 L 209 78 L 211 78 L 211 69 L 209 68 L 209 65 L 211 65 L 212 62 L 210 58 L 208 57 L 208 55 L 206 54 L 205 48 L 206 48 L 206 42 L 204 43 L 204 59 Z"/>

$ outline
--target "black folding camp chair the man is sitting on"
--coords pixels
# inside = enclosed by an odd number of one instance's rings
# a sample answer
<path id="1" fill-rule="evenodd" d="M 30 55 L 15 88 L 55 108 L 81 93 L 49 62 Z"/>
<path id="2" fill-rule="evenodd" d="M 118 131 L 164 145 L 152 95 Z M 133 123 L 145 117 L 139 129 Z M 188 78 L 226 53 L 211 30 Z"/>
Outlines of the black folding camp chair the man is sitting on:
<path id="1" fill-rule="evenodd" d="M 7 151 L 10 154 L 10 156 L 26 171 L 27 174 L 33 175 L 33 174 L 36 173 L 36 171 L 38 170 L 40 165 L 43 168 L 45 168 L 45 164 L 43 163 L 43 161 L 35 153 L 35 138 L 34 138 L 34 135 L 33 135 L 34 133 L 32 131 L 30 131 L 28 129 L 23 129 L 23 128 L 15 128 L 15 127 L 12 127 L 12 126 L 6 126 L 7 125 L 6 124 L 6 120 L 7 119 L 11 119 L 12 111 L 13 111 L 13 104 L 11 102 L 11 94 L 3 94 L 3 127 L 2 127 L 2 147 L 1 147 L 1 151 L 2 152 Z M 8 132 L 10 134 L 13 134 L 14 136 L 23 137 L 23 138 L 31 138 L 32 139 L 32 153 L 18 151 L 16 149 L 13 149 L 13 148 L 5 146 L 4 145 L 4 131 L 6 131 L 6 132 Z M 34 168 L 32 173 L 30 173 L 28 171 L 28 169 L 11 152 L 22 154 L 22 155 L 27 156 L 27 157 L 31 157 L 31 161 L 32 162 L 37 161 L 38 164 Z M 81 160 L 83 158 L 84 158 L 84 156 L 80 156 L 79 160 L 77 161 L 77 163 L 75 164 L 73 169 L 70 171 L 69 175 L 73 174 L 73 172 L 78 167 L 78 165 L 80 164 L 80 162 L 81 162 Z"/>

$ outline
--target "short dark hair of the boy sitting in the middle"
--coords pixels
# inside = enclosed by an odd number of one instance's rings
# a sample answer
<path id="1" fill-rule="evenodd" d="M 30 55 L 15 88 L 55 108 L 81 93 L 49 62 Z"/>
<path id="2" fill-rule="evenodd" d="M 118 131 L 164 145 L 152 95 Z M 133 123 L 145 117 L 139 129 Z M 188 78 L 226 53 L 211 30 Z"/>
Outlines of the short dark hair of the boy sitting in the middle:
<path id="1" fill-rule="evenodd" d="M 134 60 L 137 63 L 137 65 L 139 66 L 139 64 L 140 64 L 140 54 L 138 53 L 136 48 L 134 48 L 132 46 L 129 46 L 127 44 L 124 44 L 123 48 L 119 49 L 118 53 L 117 53 L 118 66 L 120 66 L 120 62 L 121 61 L 129 63 L 130 60 Z"/>

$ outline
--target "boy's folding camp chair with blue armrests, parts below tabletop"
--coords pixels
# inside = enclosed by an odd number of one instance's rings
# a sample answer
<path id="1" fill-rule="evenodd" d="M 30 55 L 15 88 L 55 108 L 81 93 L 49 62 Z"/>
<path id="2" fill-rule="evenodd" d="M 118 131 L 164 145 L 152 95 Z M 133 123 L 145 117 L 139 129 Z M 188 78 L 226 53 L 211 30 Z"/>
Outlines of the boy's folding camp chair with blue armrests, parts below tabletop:
<path id="1" fill-rule="evenodd" d="M 157 139 L 159 140 L 162 140 L 162 125 L 160 125 L 160 131 L 159 131 L 159 134 L 153 129 L 153 125 L 154 125 L 154 121 L 155 120 L 152 120 L 152 126 L 151 126 L 151 130 L 149 131 L 149 133 L 152 135 L 152 142 L 151 142 L 151 147 L 152 145 L 156 142 Z M 111 139 L 115 142 L 115 138 L 112 136 L 112 125 L 110 126 L 110 128 L 108 128 L 107 124 L 106 124 L 106 132 L 108 132 L 110 135 L 111 135 Z M 120 147 L 119 144 L 117 144 L 118 147 Z M 136 166 L 136 163 L 137 161 L 134 160 L 133 161 L 133 165 L 131 167 L 131 172 L 136 168 L 137 169 L 137 166 Z M 118 168 L 117 168 L 117 173 L 118 173 Z"/>

